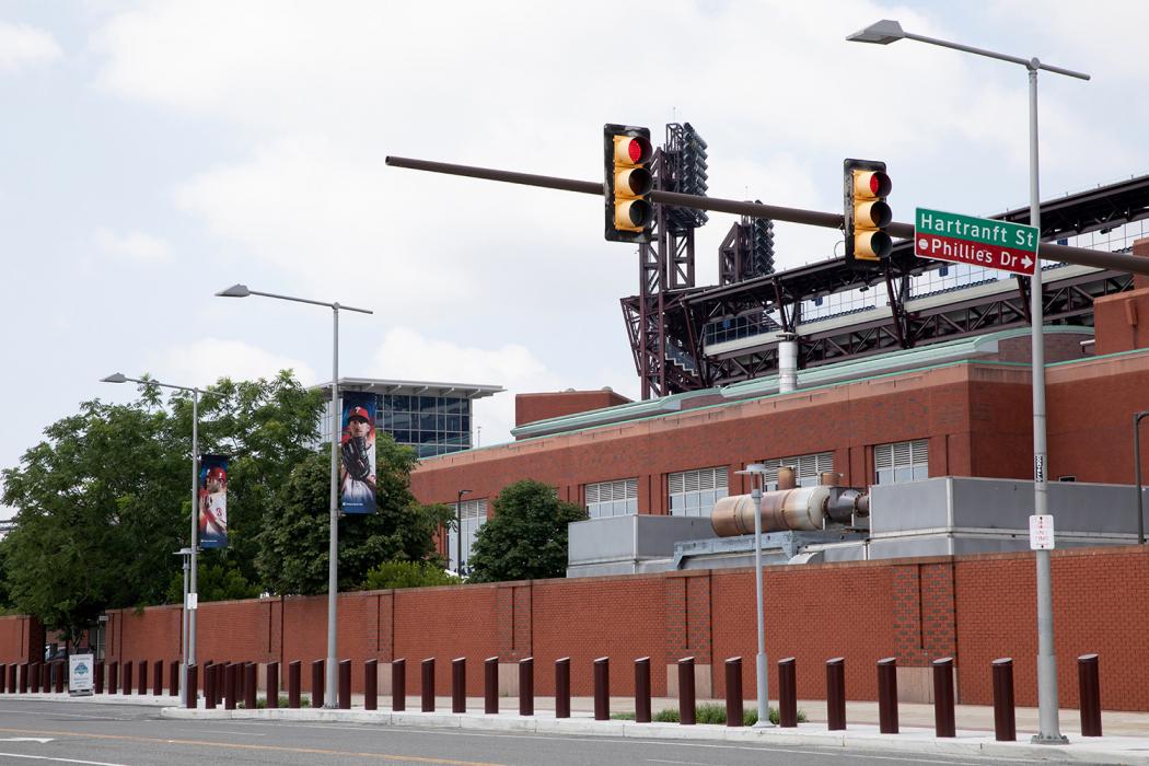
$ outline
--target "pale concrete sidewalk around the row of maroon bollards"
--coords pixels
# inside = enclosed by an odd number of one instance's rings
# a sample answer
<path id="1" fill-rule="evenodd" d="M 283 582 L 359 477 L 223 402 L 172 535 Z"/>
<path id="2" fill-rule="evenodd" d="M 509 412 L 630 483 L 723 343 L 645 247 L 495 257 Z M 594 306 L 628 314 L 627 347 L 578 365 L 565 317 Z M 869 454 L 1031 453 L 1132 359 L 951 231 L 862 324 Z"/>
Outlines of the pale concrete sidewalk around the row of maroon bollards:
<path id="1" fill-rule="evenodd" d="M 958 705 L 956 719 L 957 737 L 938 738 L 933 730 L 933 706 L 902 703 L 899 705 L 900 734 L 880 734 L 878 730 L 878 704 L 873 702 L 849 702 L 846 706 L 847 730 L 827 732 L 825 725 L 825 701 L 800 701 L 799 710 L 809 719 L 796 729 L 754 729 L 725 726 L 680 726 L 678 724 L 635 724 L 634 721 L 593 719 L 594 699 L 592 697 L 571 698 L 571 718 L 554 717 L 554 698 L 537 697 L 533 717 L 518 715 L 518 699 L 502 697 L 500 714 L 483 714 L 483 699 L 469 697 L 466 713 L 455 714 L 444 712 L 450 710 L 449 697 L 435 699 L 434 713 L 418 712 L 419 697 L 407 699 L 407 711 L 395 713 L 390 706 L 380 706 L 378 711 L 363 710 L 363 698 L 356 695 L 352 699 L 352 710 L 331 709 L 272 709 L 272 710 L 224 710 L 221 705 L 215 710 L 206 710 L 200 701 L 198 710 L 178 706 L 178 701 L 170 696 L 152 695 L 100 695 L 91 697 L 69 697 L 68 695 L 0 695 L 8 701 L 76 701 L 106 704 L 140 704 L 162 706 L 161 715 L 172 719 L 264 719 L 290 721 L 342 721 L 355 724 L 377 724 L 383 726 L 421 726 L 480 730 L 534 732 L 539 734 L 581 734 L 616 737 L 642 738 L 678 738 L 718 742 L 757 742 L 762 744 L 787 746 L 835 746 L 851 750 L 885 750 L 899 752 L 916 752 L 921 755 L 947 753 L 965 756 L 992 756 L 1015 760 L 1069 760 L 1094 764 L 1138 764 L 1149 766 L 1149 713 L 1106 712 L 1102 713 L 1103 737 L 1081 737 L 1078 711 L 1061 711 L 1062 733 L 1070 738 L 1070 744 L 1034 745 L 1030 736 L 1036 730 L 1038 710 L 1035 707 L 1017 709 L 1018 741 L 996 742 L 993 733 L 993 707 L 978 705 Z M 388 697 L 381 702 L 390 703 Z M 725 704 L 723 701 L 700 701 Z M 633 712 L 634 701 L 630 697 L 612 697 L 611 712 Z M 747 709 L 754 707 L 754 702 L 746 703 Z M 664 709 L 678 707 L 678 701 L 666 697 L 651 699 L 650 709 L 657 712 Z"/>

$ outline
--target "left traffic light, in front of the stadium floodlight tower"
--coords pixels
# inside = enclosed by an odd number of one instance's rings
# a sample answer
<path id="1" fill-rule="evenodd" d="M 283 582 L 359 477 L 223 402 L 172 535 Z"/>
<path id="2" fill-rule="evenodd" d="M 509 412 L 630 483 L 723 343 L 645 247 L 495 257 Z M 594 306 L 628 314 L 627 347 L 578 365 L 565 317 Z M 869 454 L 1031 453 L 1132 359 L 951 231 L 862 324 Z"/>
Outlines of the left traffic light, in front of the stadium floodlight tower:
<path id="1" fill-rule="evenodd" d="M 646 199 L 654 188 L 648 165 L 654 157 L 650 131 L 632 125 L 602 126 L 607 201 L 607 239 L 611 242 L 649 242 L 654 207 Z"/>

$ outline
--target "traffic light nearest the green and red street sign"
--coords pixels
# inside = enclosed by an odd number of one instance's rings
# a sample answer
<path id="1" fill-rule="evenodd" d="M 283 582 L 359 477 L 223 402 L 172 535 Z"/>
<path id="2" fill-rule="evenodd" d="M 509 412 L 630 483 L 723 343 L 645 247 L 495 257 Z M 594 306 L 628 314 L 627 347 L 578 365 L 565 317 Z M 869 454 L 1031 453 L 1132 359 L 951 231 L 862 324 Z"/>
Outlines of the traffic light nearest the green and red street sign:
<path id="1" fill-rule="evenodd" d="M 886 226 L 894 214 L 886 203 L 892 184 L 886 163 L 847 160 L 842 163 L 846 207 L 846 263 L 877 264 L 894 247 Z"/>

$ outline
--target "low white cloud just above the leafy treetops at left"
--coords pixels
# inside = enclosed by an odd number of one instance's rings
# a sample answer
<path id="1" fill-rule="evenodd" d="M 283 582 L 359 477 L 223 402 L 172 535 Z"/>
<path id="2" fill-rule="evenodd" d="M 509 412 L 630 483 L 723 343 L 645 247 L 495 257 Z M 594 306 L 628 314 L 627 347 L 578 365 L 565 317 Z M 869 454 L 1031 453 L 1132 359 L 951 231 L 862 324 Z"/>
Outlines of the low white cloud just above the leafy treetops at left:
<path id="1" fill-rule="evenodd" d="M 205 338 L 187 346 L 173 347 L 154 357 L 148 369 L 159 380 L 180 385 L 207 386 L 219 378 L 254 380 L 272 378 L 280 370 L 294 370 L 295 378 L 310 385 L 318 381 L 315 370 L 288 356 L 238 340 Z M 330 376 L 329 376 L 330 379 Z"/>

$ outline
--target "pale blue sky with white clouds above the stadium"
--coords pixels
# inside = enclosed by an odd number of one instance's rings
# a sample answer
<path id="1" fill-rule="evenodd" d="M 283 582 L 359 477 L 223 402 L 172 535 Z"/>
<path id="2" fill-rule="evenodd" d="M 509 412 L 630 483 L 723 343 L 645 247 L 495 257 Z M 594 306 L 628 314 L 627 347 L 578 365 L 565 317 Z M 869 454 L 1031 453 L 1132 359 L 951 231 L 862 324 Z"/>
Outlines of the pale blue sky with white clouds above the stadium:
<path id="1" fill-rule="evenodd" d="M 186 386 L 331 377 L 331 312 L 215 297 L 234 283 L 373 310 L 340 320 L 340 374 L 637 399 L 619 299 L 630 245 L 602 200 L 388 168 L 387 155 L 602 179 L 602 124 L 689 122 L 710 194 L 841 210 L 843 157 L 884 160 L 916 206 L 1028 202 L 1025 68 L 911 32 L 1089 72 L 1040 76 L 1043 198 L 1149 172 L 1149 3 L 0 0 L 0 466 L 111 372 Z M 734 218 L 696 234 L 717 281 Z M 779 223 L 779 269 L 841 254 Z M 5 509 L 0 509 L 0 516 Z"/>

